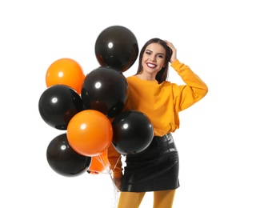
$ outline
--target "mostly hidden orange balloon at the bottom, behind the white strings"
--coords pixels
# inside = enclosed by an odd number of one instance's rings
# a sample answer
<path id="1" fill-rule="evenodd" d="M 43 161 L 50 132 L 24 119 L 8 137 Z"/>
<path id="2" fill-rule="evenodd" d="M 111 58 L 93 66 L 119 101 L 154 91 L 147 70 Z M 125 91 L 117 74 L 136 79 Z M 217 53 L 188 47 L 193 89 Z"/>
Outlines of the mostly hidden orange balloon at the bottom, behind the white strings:
<path id="1" fill-rule="evenodd" d="M 98 156 L 94 156 L 91 158 L 90 167 L 87 170 L 90 174 L 99 174 L 104 170 L 107 170 L 110 166 L 110 162 L 107 158 L 107 150 Z"/>

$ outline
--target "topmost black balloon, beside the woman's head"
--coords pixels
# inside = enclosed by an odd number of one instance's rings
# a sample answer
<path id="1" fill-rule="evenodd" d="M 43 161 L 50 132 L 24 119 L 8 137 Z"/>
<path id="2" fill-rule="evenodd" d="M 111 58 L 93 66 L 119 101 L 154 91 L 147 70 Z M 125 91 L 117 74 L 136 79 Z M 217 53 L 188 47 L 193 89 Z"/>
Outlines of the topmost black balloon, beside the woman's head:
<path id="1" fill-rule="evenodd" d="M 110 26 L 98 35 L 95 54 L 100 66 L 113 66 L 124 72 L 138 58 L 138 42 L 124 26 Z"/>

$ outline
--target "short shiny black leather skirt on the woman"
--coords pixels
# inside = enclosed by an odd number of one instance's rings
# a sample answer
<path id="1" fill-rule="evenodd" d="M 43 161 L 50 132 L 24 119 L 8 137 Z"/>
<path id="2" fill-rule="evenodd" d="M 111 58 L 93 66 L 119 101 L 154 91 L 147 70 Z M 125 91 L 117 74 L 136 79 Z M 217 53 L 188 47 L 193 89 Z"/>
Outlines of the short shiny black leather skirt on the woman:
<path id="1" fill-rule="evenodd" d="M 122 191 L 174 190 L 178 181 L 178 151 L 171 134 L 154 137 L 138 154 L 126 155 Z"/>

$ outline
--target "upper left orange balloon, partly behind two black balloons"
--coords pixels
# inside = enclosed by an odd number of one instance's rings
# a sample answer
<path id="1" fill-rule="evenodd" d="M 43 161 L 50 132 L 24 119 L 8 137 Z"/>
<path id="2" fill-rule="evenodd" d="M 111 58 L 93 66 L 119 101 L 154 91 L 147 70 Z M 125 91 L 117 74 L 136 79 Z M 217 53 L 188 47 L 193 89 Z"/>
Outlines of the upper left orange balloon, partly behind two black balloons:
<path id="1" fill-rule="evenodd" d="M 66 85 L 81 94 L 84 78 L 85 74 L 78 62 L 71 58 L 60 58 L 46 71 L 46 86 Z"/>

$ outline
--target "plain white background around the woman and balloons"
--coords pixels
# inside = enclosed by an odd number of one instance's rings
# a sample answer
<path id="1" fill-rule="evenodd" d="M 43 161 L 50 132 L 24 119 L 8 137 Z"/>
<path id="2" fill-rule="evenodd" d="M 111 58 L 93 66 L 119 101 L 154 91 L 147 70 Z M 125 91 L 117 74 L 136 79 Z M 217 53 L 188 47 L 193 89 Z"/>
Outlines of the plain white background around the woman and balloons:
<path id="1" fill-rule="evenodd" d="M 1 0 L 0 206 L 112 207 L 110 175 L 51 170 L 46 148 L 63 131 L 42 121 L 38 100 L 52 62 L 73 58 L 85 74 L 94 70 L 98 34 L 120 25 L 139 49 L 150 38 L 173 42 L 178 59 L 209 86 L 174 133 L 181 162 L 174 207 L 256 207 L 255 19 L 252 0 Z M 182 83 L 172 68 L 169 78 Z M 148 193 L 141 207 L 151 204 Z"/>

